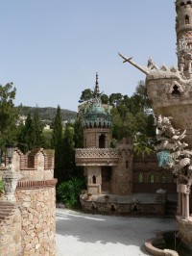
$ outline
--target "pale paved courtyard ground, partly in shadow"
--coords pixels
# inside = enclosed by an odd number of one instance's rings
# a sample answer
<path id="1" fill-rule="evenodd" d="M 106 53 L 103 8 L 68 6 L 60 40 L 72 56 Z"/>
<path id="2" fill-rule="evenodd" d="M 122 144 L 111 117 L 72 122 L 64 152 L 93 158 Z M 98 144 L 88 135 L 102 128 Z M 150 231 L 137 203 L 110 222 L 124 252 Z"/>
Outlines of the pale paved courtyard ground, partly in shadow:
<path id="1" fill-rule="evenodd" d="M 176 230 L 173 218 L 88 215 L 57 209 L 57 256 L 143 256 L 157 232 Z"/>

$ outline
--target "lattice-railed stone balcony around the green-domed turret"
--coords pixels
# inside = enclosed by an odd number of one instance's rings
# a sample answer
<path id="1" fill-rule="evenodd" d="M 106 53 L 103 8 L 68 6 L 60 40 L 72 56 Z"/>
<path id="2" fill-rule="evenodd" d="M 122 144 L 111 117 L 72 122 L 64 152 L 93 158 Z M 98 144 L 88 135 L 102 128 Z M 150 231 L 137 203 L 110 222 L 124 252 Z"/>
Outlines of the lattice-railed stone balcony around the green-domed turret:
<path id="1" fill-rule="evenodd" d="M 119 156 L 114 148 L 77 148 L 77 166 L 117 166 Z"/>

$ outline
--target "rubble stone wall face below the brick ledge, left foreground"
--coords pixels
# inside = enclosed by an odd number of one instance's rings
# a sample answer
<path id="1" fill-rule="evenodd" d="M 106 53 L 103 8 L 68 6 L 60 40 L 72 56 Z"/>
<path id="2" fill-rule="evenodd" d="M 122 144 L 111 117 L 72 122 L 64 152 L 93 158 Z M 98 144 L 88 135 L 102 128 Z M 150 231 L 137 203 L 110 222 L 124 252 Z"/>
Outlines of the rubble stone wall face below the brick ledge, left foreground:
<path id="1" fill-rule="evenodd" d="M 55 186 L 20 186 L 15 193 L 22 217 L 22 256 L 56 255 Z"/>

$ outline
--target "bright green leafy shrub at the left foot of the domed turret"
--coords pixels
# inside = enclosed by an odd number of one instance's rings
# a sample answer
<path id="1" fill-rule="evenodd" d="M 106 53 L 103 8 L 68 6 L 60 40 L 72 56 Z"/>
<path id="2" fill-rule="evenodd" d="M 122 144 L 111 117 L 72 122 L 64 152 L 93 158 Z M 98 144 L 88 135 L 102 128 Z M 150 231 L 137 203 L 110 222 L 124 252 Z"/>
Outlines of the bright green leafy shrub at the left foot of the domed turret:
<path id="1" fill-rule="evenodd" d="M 85 180 L 72 178 L 69 181 L 60 183 L 57 192 L 60 201 L 67 208 L 77 208 L 80 206 L 80 194 L 85 189 Z"/>

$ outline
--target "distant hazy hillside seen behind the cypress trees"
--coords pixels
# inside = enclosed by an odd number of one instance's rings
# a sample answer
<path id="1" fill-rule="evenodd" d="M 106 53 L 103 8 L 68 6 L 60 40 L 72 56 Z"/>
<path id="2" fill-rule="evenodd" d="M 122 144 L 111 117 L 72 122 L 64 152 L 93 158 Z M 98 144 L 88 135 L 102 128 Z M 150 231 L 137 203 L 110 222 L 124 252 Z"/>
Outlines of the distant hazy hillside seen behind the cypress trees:
<path id="1" fill-rule="evenodd" d="M 37 107 L 37 109 L 38 109 L 39 117 L 41 120 L 52 121 L 53 118 L 55 118 L 55 116 L 56 116 L 57 108 L 51 108 L 51 107 L 39 108 L 39 107 Z M 28 113 L 31 111 L 31 114 L 33 115 L 35 110 L 36 110 L 36 107 L 22 106 L 20 113 L 21 113 L 21 115 L 28 115 Z M 71 119 L 76 119 L 76 117 L 77 117 L 77 112 L 74 112 L 74 111 L 60 109 L 60 112 L 61 112 L 62 121 L 64 121 L 64 120 L 70 121 Z"/>

